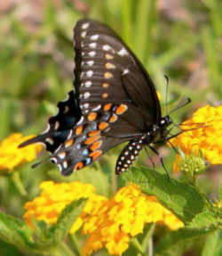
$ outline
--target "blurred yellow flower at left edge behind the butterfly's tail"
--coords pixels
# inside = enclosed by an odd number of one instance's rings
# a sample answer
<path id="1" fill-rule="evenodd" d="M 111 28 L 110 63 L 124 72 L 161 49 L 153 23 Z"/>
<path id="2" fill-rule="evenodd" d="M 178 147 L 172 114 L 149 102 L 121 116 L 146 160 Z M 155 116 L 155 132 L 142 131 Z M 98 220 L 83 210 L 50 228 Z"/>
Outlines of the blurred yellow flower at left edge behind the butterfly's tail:
<path id="1" fill-rule="evenodd" d="M 33 136 L 12 134 L 0 143 L 0 169 L 12 171 L 16 166 L 36 159 L 36 154 L 42 150 L 42 145 L 28 145 L 24 148 L 18 146 Z"/>

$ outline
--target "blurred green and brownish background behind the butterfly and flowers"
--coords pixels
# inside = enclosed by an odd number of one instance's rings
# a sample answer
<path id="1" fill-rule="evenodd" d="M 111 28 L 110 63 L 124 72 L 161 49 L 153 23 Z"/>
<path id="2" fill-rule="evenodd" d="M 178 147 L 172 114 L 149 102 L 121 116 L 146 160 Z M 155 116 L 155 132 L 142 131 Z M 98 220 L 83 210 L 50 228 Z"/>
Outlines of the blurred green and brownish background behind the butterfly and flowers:
<path id="1" fill-rule="evenodd" d="M 170 100 L 192 99 L 191 104 L 173 113 L 175 123 L 202 105 L 221 104 L 221 13 L 220 0 L 1 1 L 0 139 L 15 132 L 42 132 L 48 117 L 56 113 L 56 103 L 73 87 L 73 28 L 84 16 L 107 23 L 123 37 L 155 81 L 163 102 L 164 75 L 170 78 Z M 38 169 L 27 164 L 20 169 L 27 197 L 18 194 L 10 178 L 1 177 L 1 211 L 21 217 L 24 202 L 39 193 L 41 181 L 50 178 L 81 179 L 91 182 L 100 194 L 112 194 L 118 186 L 113 173 L 120 148 L 72 178 L 61 178 L 51 163 Z M 165 164 L 171 169 L 174 153 L 166 147 L 159 151 L 167 156 Z M 141 153 L 139 161 L 148 162 L 146 153 Z M 211 197 L 217 193 L 219 178 L 217 167 L 201 178 Z M 0 255 L 23 254 L 2 243 Z"/>

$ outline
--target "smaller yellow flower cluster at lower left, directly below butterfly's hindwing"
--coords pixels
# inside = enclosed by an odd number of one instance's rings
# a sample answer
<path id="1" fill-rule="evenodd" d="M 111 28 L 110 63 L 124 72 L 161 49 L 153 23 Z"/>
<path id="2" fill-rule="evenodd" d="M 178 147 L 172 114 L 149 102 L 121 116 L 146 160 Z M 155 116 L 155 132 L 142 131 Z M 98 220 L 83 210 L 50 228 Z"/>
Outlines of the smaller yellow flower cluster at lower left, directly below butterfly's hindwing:
<path id="1" fill-rule="evenodd" d="M 90 184 L 82 184 L 81 182 L 54 183 L 53 181 L 45 181 L 40 187 L 43 190 L 40 196 L 31 202 L 26 202 L 24 206 L 27 212 L 23 217 L 30 227 L 33 227 L 33 217 L 44 220 L 48 224 L 56 223 L 59 214 L 69 203 L 80 198 L 88 198 L 95 190 Z M 81 227 L 79 222 L 82 223 L 82 220 L 77 219 L 72 228 Z"/>

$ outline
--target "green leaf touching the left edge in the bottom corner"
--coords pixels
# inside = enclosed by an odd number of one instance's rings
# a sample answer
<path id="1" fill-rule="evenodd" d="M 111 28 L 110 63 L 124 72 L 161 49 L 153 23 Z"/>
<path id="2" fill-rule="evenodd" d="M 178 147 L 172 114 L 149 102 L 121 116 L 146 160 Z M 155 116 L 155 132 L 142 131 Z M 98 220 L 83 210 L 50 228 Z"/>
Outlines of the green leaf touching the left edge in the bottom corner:
<path id="1" fill-rule="evenodd" d="M 32 244 L 29 238 L 31 233 L 32 230 L 20 219 L 15 219 L 3 212 L 0 213 L 0 240 L 25 249 Z"/>

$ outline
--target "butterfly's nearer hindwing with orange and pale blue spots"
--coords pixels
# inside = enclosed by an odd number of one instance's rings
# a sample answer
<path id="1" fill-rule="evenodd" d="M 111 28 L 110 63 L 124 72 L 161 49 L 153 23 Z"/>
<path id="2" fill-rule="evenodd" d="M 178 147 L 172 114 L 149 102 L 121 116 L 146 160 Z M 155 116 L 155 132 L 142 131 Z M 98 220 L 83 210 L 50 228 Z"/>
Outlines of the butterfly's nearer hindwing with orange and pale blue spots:
<path id="1" fill-rule="evenodd" d="M 129 140 L 129 137 L 108 134 L 112 122 L 118 119 L 118 107 L 113 106 L 113 110 L 109 111 L 93 112 L 95 119 L 85 120 L 82 117 L 70 131 L 67 141 L 52 155 L 52 160 L 57 163 L 63 175 L 82 169 L 98 160 L 110 148 Z"/>

